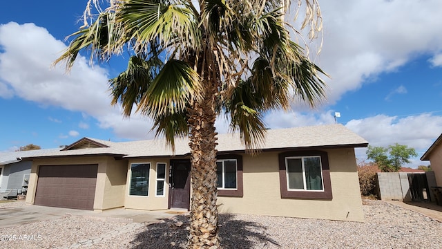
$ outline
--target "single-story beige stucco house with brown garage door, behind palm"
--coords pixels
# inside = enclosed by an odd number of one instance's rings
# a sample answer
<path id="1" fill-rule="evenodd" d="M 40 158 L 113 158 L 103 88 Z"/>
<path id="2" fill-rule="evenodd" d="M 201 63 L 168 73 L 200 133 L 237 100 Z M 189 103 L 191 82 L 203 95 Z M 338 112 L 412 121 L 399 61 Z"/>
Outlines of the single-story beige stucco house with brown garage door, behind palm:
<path id="1" fill-rule="evenodd" d="M 367 141 L 341 124 L 267 131 L 258 155 L 238 134 L 218 135 L 220 212 L 363 221 L 355 147 Z M 189 209 L 187 140 L 109 142 L 82 138 L 30 156 L 26 203 L 86 210 Z"/>

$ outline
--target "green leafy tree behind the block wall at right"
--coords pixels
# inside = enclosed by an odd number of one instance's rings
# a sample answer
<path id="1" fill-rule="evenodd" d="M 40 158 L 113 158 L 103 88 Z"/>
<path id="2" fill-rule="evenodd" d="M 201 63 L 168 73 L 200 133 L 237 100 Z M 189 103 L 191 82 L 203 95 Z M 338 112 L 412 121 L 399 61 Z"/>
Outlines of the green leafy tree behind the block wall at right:
<path id="1" fill-rule="evenodd" d="M 412 156 L 417 156 L 414 148 L 397 142 L 387 148 L 369 146 L 367 149 L 367 158 L 373 160 L 382 172 L 398 172 L 403 164 L 410 163 Z"/>

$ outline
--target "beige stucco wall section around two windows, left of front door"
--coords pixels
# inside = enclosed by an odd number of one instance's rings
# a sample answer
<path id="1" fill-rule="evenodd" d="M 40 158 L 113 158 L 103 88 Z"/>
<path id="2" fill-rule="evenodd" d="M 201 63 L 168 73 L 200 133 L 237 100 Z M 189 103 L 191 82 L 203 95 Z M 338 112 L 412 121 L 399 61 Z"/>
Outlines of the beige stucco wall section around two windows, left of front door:
<path id="1" fill-rule="evenodd" d="M 126 165 L 127 187 L 124 207 L 137 210 L 166 210 L 169 206 L 169 162 L 170 158 L 148 158 L 129 160 Z M 131 184 L 131 163 L 150 163 L 148 196 L 129 195 Z M 157 187 L 157 163 L 166 163 L 166 183 L 164 196 L 155 196 Z"/>

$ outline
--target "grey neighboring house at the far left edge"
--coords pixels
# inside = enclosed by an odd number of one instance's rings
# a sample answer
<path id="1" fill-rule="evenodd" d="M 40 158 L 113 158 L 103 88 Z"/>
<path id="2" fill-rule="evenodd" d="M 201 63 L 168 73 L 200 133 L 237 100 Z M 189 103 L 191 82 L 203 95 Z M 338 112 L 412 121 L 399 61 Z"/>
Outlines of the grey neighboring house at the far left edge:
<path id="1" fill-rule="evenodd" d="M 22 161 L 22 157 L 37 156 L 42 153 L 59 151 L 59 149 L 38 149 L 30 151 L 13 151 L 0 154 L 0 193 L 6 190 L 26 192 L 32 162 Z"/>

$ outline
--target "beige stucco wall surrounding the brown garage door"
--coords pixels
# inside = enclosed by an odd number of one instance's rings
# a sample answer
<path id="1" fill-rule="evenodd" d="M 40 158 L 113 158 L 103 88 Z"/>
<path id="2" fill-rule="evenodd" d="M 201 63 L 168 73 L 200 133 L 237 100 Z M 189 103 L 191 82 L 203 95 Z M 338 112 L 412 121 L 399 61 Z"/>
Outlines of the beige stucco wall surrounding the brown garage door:
<path id="1" fill-rule="evenodd" d="M 39 158 L 32 161 L 26 203 L 33 204 L 37 190 L 40 165 L 82 165 L 97 164 L 97 185 L 95 187 L 94 210 L 107 210 L 124 206 L 126 191 L 127 160 L 115 160 L 110 156 Z"/>

